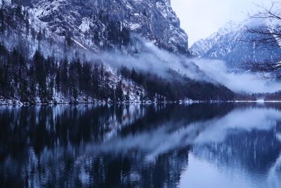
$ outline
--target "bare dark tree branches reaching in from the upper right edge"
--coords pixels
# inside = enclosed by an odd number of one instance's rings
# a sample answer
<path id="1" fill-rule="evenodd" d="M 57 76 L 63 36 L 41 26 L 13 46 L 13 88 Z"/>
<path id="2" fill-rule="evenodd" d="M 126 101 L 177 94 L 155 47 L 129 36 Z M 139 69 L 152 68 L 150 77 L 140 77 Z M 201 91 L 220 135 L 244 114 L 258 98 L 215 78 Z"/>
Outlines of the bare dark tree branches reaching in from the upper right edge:
<path id="1" fill-rule="evenodd" d="M 281 1 L 275 1 L 270 8 L 261 7 L 255 15 L 249 15 L 253 25 L 247 27 L 247 32 L 255 34 L 251 42 L 262 45 L 265 50 L 272 51 L 281 48 Z M 270 24 L 266 24 L 266 23 Z M 264 78 L 281 78 L 281 54 L 262 62 L 248 62 L 247 68 L 262 73 Z"/>

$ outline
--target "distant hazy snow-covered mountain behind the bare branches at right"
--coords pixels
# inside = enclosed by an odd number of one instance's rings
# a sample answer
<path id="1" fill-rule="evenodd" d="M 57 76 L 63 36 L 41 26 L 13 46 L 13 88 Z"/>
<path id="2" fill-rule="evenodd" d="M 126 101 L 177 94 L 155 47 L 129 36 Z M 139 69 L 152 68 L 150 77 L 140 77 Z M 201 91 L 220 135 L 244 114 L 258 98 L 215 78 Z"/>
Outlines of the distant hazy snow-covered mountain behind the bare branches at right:
<path id="1" fill-rule="evenodd" d="M 260 37 L 247 31 L 247 28 L 253 24 L 252 20 L 245 20 L 242 23 L 227 23 L 207 39 L 195 42 L 190 51 L 200 58 L 216 58 L 226 61 L 228 68 L 241 68 L 243 63 L 249 61 L 280 58 L 281 48 L 270 49 L 270 46 L 252 42 L 253 39 Z M 259 24 L 269 27 L 273 23 L 270 20 L 263 20 Z"/>

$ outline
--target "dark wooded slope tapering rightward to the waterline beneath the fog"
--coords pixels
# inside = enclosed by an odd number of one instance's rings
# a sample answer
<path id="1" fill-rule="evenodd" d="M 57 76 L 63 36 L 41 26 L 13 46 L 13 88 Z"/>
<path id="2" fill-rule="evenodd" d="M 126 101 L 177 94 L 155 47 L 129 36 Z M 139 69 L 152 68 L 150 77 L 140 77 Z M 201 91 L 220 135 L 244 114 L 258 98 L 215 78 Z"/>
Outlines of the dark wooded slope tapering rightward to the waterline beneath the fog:
<path id="1" fill-rule="evenodd" d="M 150 99 L 157 96 L 157 101 L 164 101 L 164 99 L 176 101 L 185 98 L 203 101 L 231 100 L 237 97 L 223 85 L 192 80 L 172 70 L 168 73 L 172 79 L 161 77 L 155 73 L 129 70 L 126 67 L 122 67 L 120 73 L 145 88 Z"/>

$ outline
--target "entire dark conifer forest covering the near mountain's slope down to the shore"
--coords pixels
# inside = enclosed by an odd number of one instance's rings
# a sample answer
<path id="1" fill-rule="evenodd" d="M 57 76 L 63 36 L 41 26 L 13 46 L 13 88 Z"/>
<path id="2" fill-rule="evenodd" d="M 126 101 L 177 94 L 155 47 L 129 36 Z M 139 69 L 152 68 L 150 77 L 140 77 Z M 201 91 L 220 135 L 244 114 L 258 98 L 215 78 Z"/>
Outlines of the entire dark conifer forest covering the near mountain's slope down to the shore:
<path id="1" fill-rule="evenodd" d="M 130 32 L 120 30 L 121 23 L 107 21 L 105 13 L 99 19 L 107 23 L 107 42 L 126 46 L 130 42 Z M 48 40 L 44 30 L 35 31 L 30 27 L 29 15 L 20 6 L 1 7 L 0 10 L 0 97 L 16 99 L 22 103 L 79 103 L 81 96 L 86 101 L 228 101 L 249 99 L 251 96 L 235 94 L 218 83 L 192 80 L 174 70 L 166 70 L 167 77 L 143 70 L 115 67 L 113 73 L 107 62 L 86 61 L 77 56 L 67 56 L 73 49 L 72 36 L 65 33 L 60 51 L 55 56 L 44 53 Z M 95 35 L 95 33 L 93 33 Z M 10 36 L 10 37 L 8 37 Z M 11 37 L 12 36 L 12 37 Z M 22 36 L 22 37 L 19 37 Z M 6 38 L 15 38 L 13 45 L 7 46 Z M 26 41 L 32 39 L 38 44 L 33 53 Z M 97 40 L 98 35 L 93 37 Z M 51 40 L 48 44 L 54 44 Z M 110 49 L 110 45 L 105 47 Z M 58 44 L 55 44 L 59 46 Z M 52 48 L 52 46 L 48 46 Z M 106 50 L 106 49 L 104 49 Z M 94 54 L 93 54 L 94 56 Z M 83 59 L 83 60 L 81 60 Z M 128 84 L 129 83 L 129 84 Z M 39 101 L 39 102 L 38 102 Z"/>

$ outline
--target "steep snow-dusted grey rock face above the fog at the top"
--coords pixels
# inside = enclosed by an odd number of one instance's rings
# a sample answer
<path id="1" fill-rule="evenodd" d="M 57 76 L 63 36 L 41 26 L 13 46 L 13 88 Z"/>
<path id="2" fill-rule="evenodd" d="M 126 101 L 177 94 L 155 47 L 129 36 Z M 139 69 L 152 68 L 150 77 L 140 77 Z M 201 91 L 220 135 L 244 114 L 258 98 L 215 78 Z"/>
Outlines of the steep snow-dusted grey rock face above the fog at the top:
<path id="1" fill-rule="evenodd" d="M 87 49 L 124 49 L 141 36 L 162 49 L 188 54 L 188 35 L 170 0 L 28 0 L 31 25 Z M 125 47 L 124 47 L 125 46 Z"/>

